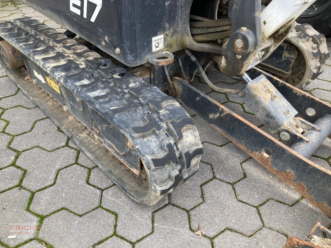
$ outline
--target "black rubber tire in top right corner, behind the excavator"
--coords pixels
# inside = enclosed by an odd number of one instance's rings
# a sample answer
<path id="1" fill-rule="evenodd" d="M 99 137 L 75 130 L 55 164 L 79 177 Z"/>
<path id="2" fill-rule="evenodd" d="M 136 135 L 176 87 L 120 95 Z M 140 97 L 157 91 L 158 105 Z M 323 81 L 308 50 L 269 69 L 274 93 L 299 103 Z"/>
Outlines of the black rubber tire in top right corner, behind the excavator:
<path id="1" fill-rule="evenodd" d="M 331 0 L 329 0 L 331 1 Z M 331 37 L 331 4 L 322 13 L 313 17 L 299 17 L 298 23 L 308 23 L 317 32 L 324 34 L 326 38 Z"/>

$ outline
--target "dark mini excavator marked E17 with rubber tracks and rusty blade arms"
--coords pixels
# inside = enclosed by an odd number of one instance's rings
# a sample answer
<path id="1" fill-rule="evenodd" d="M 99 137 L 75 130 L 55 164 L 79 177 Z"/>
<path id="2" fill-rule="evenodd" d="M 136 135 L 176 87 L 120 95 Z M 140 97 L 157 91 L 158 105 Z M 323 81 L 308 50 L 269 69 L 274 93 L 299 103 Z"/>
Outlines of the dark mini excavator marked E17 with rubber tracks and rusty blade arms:
<path id="1" fill-rule="evenodd" d="M 331 172 L 309 160 L 331 105 L 300 90 L 330 57 L 295 22 L 314 0 L 21 1 L 68 30 L 1 22 L 3 67 L 131 198 L 153 205 L 197 172 L 203 149 L 182 103 L 331 216 Z M 216 87 L 208 67 L 245 86 Z M 265 131 L 190 85 L 196 74 L 240 96 Z"/>

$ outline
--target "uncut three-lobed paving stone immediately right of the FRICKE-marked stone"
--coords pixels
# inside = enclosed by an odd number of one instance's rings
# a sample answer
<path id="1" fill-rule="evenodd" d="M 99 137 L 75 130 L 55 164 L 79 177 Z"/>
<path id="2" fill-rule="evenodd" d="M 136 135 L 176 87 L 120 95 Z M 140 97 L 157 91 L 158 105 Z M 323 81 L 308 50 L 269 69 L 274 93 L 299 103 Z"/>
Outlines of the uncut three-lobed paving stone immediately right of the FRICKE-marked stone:
<path id="1" fill-rule="evenodd" d="M 30 210 L 47 215 L 67 208 L 82 215 L 99 205 L 101 192 L 86 184 L 88 170 L 72 165 L 59 171 L 56 184 L 35 193 Z"/>

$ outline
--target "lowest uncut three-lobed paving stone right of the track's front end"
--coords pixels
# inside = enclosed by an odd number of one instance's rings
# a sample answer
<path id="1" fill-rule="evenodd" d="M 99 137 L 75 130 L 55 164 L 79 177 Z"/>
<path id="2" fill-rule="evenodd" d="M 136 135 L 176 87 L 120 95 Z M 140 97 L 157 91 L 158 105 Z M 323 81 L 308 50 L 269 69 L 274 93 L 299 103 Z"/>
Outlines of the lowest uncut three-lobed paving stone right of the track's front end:
<path id="1" fill-rule="evenodd" d="M 226 227 L 244 234 L 262 227 L 257 209 L 237 201 L 231 185 L 214 179 L 202 189 L 205 202 L 190 211 L 193 229 L 213 237 Z"/>

